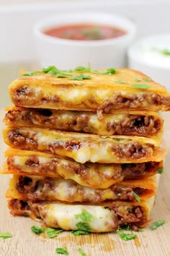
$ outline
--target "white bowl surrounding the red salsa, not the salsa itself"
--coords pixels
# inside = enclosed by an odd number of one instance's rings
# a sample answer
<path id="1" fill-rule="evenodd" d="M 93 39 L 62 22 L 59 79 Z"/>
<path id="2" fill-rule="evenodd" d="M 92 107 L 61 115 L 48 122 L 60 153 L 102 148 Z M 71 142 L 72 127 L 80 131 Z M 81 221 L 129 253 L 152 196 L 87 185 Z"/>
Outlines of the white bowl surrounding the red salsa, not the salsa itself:
<path id="1" fill-rule="evenodd" d="M 113 39 L 68 40 L 43 33 L 51 27 L 81 23 L 112 25 L 127 31 Z M 135 25 L 128 18 L 99 12 L 66 13 L 47 17 L 35 25 L 35 40 L 41 67 L 55 65 L 59 69 L 77 66 L 92 68 L 126 67 L 126 51 L 135 36 Z"/>

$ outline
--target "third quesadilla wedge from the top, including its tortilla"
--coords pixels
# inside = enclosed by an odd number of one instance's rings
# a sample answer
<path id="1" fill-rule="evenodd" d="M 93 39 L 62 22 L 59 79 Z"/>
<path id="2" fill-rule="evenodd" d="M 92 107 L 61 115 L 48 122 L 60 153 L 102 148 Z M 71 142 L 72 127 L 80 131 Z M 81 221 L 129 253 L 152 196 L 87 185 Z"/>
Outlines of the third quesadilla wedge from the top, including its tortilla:
<path id="1" fill-rule="evenodd" d="M 12 148 L 67 156 L 79 163 L 142 163 L 161 161 L 166 155 L 158 138 L 104 137 L 35 127 L 7 127 L 4 141 Z"/>

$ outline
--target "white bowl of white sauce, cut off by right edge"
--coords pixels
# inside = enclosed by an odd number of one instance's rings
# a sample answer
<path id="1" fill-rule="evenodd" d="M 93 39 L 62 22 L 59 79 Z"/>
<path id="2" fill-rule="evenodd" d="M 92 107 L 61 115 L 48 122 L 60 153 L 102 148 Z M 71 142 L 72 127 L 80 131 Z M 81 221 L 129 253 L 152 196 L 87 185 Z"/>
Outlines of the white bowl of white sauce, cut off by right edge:
<path id="1" fill-rule="evenodd" d="M 169 55 L 162 54 L 168 50 Z M 128 67 L 152 77 L 170 91 L 170 35 L 151 35 L 128 49 Z"/>

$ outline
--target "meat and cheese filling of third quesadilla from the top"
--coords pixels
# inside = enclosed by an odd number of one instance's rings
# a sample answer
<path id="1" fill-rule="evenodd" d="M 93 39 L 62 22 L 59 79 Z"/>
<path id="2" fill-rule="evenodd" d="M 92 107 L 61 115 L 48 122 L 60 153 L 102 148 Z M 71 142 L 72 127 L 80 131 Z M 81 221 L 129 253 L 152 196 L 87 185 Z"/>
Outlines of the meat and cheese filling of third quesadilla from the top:
<path id="1" fill-rule="evenodd" d="M 53 135 L 53 140 L 51 142 L 50 134 Z M 60 136 L 60 137 L 59 137 Z M 62 137 L 63 136 L 63 137 Z M 112 163 L 112 156 L 115 155 L 115 158 L 126 158 L 126 159 L 140 159 L 140 158 L 149 158 L 153 154 L 154 145 L 149 143 L 139 143 L 138 141 L 125 140 L 122 142 L 115 140 L 107 140 L 103 137 L 64 137 L 61 133 L 51 130 L 51 132 L 44 134 L 42 130 L 36 129 L 12 129 L 8 132 L 9 142 L 14 145 L 15 148 L 25 149 L 25 150 L 42 150 L 48 151 L 53 154 L 69 156 L 74 160 L 84 163 L 88 161 L 88 158 L 94 159 L 95 162 L 104 162 Z M 42 142 L 43 141 L 43 142 Z M 107 143 L 106 143 L 107 142 Z M 115 143 L 117 142 L 117 143 Z M 84 153 L 83 161 L 81 160 L 81 155 L 79 155 L 79 149 L 82 150 L 91 150 L 94 155 L 86 155 Z M 99 155 L 99 150 L 105 150 L 107 155 L 107 160 L 104 159 L 103 155 Z M 78 153 L 76 153 L 78 152 Z M 76 155 L 73 155 L 75 153 Z M 85 160 L 85 157 L 86 158 Z M 97 159 L 98 158 L 98 159 Z M 112 158 L 112 159 L 111 159 Z M 94 160 L 93 160 L 94 161 Z M 125 160 L 124 160 L 125 161 Z"/>

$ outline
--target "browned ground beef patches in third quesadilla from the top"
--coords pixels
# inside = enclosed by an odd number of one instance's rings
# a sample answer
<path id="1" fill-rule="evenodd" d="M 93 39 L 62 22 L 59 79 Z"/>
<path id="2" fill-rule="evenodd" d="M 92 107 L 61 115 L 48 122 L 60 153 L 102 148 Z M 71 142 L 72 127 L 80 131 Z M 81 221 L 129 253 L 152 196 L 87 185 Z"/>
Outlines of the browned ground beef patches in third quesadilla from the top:
<path id="1" fill-rule="evenodd" d="M 17 129 L 14 129 L 9 132 L 8 137 L 9 141 L 14 145 L 15 148 L 26 149 L 26 150 L 35 150 L 38 148 L 38 141 L 35 141 L 35 135 L 22 134 Z M 85 141 L 86 142 L 86 141 Z M 52 144 L 46 145 L 47 151 L 55 154 L 55 149 L 61 149 L 66 151 L 79 150 L 81 145 L 84 144 L 84 141 L 81 140 L 67 140 L 67 141 L 55 141 Z M 88 141 L 86 143 L 86 146 Z M 140 145 L 138 142 L 130 141 L 128 143 L 117 143 L 113 145 L 110 149 L 111 153 L 114 152 L 117 157 L 122 158 L 143 158 L 150 157 L 153 153 L 154 145 L 146 144 Z"/>

